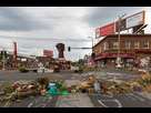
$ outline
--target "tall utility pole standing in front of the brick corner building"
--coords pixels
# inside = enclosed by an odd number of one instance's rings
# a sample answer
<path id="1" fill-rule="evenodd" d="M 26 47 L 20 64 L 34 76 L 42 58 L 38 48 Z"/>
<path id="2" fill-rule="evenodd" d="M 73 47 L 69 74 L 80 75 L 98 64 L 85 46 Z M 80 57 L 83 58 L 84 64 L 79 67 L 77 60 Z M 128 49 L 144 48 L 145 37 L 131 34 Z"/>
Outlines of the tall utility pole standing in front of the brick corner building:
<path id="1" fill-rule="evenodd" d="M 127 13 L 124 13 L 122 17 L 119 17 L 119 39 L 118 39 L 118 66 L 121 66 L 120 65 L 120 22 L 121 22 L 121 19 L 125 16 Z"/>

